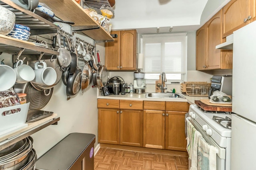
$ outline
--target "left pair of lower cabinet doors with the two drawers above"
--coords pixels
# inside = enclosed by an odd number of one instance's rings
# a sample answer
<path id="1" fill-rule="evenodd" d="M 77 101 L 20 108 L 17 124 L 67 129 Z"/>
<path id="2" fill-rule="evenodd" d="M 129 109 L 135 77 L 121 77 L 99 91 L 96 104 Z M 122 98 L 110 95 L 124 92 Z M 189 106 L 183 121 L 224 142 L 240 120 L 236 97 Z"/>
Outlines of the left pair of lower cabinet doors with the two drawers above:
<path id="1" fill-rule="evenodd" d="M 98 107 L 119 107 L 119 101 L 114 103 L 113 100 L 100 99 Z M 142 147 L 142 104 L 142 101 L 123 100 L 120 109 L 98 108 L 98 143 Z"/>

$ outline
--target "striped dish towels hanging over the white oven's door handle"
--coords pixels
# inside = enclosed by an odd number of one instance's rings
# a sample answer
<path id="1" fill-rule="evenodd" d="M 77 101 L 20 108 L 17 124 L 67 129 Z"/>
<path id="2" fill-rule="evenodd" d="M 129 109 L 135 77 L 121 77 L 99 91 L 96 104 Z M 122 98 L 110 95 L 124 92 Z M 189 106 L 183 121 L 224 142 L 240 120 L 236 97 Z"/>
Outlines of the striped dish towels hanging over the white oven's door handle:
<path id="1" fill-rule="evenodd" d="M 216 147 L 208 144 L 190 121 L 187 122 L 187 127 L 190 170 L 216 170 Z"/>

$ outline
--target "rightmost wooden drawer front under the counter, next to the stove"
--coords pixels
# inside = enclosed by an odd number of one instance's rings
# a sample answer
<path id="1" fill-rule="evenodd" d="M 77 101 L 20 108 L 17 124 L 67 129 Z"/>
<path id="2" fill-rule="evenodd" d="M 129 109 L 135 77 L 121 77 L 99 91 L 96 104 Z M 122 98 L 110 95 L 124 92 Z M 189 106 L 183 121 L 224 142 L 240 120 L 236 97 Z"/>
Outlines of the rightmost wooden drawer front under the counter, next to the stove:
<path id="1" fill-rule="evenodd" d="M 166 102 L 167 111 L 186 111 L 188 112 L 189 103 L 188 102 Z"/>

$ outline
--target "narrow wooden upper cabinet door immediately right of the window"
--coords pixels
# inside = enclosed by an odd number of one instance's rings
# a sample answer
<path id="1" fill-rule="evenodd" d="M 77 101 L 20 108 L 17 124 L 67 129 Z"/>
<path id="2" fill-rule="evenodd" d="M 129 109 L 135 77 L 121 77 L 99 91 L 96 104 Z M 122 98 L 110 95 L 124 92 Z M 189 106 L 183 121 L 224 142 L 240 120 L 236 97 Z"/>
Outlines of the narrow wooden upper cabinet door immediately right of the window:
<path id="1" fill-rule="evenodd" d="M 196 70 L 206 69 L 206 25 L 196 31 Z"/>

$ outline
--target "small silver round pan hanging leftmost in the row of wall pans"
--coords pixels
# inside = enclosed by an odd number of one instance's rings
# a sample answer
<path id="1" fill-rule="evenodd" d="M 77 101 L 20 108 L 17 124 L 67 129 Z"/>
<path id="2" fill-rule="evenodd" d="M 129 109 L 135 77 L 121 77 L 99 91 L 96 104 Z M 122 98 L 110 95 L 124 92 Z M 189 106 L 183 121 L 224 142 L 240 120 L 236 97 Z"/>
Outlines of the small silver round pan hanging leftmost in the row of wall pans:
<path id="1" fill-rule="evenodd" d="M 57 57 L 58 57 L 59 64 L 62 67 L 62 70 L 64 70 L 63 68 L 69 66 L 69 64 L 71 63 L 71 54 L 67 49 L 65 49 L 65 47 L 61 47 L 60 33 L 58 33 L 58 44 L 59 44 L 58 52 L 60 54 Z"/>

